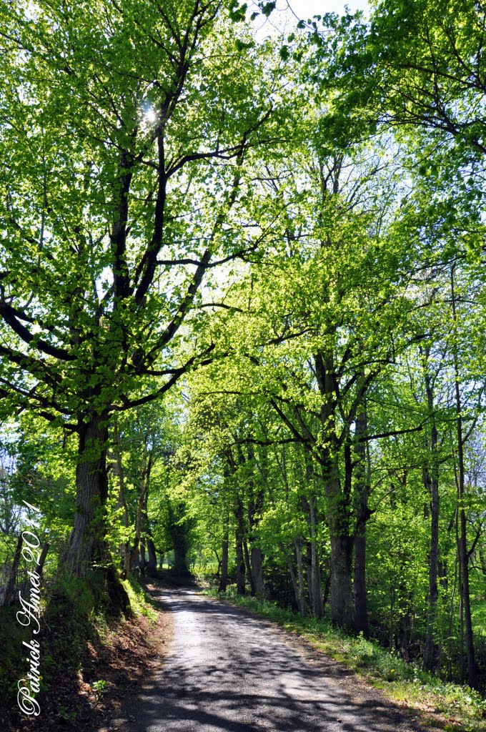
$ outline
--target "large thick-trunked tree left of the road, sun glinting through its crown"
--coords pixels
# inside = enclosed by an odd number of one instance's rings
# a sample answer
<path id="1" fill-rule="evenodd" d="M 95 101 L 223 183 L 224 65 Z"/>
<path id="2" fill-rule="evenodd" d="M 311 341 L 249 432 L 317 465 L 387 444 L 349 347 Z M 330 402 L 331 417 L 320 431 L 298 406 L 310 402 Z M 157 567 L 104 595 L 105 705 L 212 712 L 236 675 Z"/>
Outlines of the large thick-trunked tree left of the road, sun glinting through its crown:
<path id="1" fill-rule="evenodd" d="M 111 414 L 210 358 L 192 311 L 203 277 L 218 255 L 254 246 L 231 211 L 243 215 L 245 164 L 272 137 L 274 72 L 226 10 L 222 0 L 0 10 L 1 396 L 4 412 L 78 436 L 69 564 L 79 574 L 107 561 Z M 190 352 L 176 355 L 189 319 Z"/>

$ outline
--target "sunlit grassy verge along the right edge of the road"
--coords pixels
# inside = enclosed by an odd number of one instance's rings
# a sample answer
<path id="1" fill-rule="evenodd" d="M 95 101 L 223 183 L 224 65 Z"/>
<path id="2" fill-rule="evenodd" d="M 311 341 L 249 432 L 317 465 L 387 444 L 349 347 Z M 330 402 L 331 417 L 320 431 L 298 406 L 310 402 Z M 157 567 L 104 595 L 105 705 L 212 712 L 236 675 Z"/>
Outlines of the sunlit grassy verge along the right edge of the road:
<path id="1" fill-rule="evenodd" d="M 429 723 L 447 732 L 486 732 L 486 700 L 467 686 L 446 683 L 419 665 L 406 663 L 375 641 L 347 635 L 326 620 L 302 618 L 274 602 L 237 595 L 234 589 L 225 593 L 216 589 L 203 592 L 252 610 L 302 636 L 315 648 L 359 673 L 390 700 L 427 714 Z"/>

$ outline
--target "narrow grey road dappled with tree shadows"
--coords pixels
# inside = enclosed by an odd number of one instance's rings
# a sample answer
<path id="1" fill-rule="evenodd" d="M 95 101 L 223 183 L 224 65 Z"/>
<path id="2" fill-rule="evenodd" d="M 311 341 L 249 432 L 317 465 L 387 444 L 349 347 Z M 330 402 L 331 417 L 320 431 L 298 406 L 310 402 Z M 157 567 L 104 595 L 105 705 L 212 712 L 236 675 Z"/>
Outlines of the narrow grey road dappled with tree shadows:
<path id="1" fill-rule="evenodd" d="M 319 668 L 267 621 L 192 589 L 164 590 L 165 662 L 130 709 L 130 732 L 417 732 L 334 664 Z"/>

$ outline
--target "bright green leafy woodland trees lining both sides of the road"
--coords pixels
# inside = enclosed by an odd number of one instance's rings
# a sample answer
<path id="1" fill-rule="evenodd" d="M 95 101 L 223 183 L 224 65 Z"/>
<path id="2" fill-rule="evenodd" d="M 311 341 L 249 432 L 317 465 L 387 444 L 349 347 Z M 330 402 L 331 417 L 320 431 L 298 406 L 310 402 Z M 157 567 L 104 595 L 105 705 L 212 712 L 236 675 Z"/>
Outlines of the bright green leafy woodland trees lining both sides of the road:
<path id="1" fill-rule="evenodd" d="M 368 15 L 1 7 L 9 703 L 30 515 L 80 638 L 192 572 L 480 704 L 486 6 Z"/>

